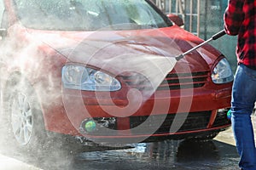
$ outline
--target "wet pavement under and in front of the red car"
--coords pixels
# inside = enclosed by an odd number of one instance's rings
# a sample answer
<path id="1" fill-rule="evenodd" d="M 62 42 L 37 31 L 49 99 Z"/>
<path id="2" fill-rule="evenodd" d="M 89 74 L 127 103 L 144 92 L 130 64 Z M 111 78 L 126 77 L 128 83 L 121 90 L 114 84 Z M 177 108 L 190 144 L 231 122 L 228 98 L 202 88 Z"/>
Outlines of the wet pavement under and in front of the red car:
<path id="1" fill-rule="evenodd" d="M 219 133 L 218 137 L 207 142 L 166 140 L 131 144 L 128 149 L 90 147 L 90 150 L 76 154 L 48 150 L 39 156 L 24 156 L 15 151 L 4 150 L 3 146 L 1 148 L 1 170 L 239 169 L 239 157 L 231 129 Z"/>

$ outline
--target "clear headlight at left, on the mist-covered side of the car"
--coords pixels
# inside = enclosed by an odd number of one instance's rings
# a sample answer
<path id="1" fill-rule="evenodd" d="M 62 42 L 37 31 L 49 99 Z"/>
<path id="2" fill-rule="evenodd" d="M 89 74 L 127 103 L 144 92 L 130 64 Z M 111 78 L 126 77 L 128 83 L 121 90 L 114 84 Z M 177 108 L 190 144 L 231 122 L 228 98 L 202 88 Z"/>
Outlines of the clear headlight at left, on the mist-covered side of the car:
<path id="1" fill-rule="evenodd" d="M 62 68 L 64 88 L 87 91 L 117 91 L 120 82 L 110 75 L 82 65 L 65 65 Z"/>

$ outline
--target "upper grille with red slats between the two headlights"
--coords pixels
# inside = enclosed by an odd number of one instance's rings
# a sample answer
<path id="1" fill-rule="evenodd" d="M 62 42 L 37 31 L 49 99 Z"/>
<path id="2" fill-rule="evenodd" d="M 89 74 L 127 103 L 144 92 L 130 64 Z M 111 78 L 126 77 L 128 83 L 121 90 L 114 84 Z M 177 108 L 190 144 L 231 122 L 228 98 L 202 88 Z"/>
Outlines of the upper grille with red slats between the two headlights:
<path id="1" fill-rule="evenodd" d="M 201 88 L 207 82 L 209 71 L 199 71 L 192 73 L 172 73 L 170 72 L 166 79 L 160 83 L 157 90 L 177 90 L 184 88 Z M 139 90 L 149 90 L 150 82 L 142 75 L 124 76 L 123 80 L 131 88 Z"/>

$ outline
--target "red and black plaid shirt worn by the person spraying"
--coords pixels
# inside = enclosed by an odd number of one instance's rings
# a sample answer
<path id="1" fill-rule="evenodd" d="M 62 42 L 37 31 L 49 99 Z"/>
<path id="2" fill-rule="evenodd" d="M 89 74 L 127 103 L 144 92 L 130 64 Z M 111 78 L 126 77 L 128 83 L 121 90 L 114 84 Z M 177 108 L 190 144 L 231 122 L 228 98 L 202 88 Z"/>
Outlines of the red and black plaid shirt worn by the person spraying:
<path id="1" fill-rule="evenodd" d="M 224 28 L 227 34 L 238 35 L 238 63 L 256 69 L 256 0 L 230 0 Z"/>

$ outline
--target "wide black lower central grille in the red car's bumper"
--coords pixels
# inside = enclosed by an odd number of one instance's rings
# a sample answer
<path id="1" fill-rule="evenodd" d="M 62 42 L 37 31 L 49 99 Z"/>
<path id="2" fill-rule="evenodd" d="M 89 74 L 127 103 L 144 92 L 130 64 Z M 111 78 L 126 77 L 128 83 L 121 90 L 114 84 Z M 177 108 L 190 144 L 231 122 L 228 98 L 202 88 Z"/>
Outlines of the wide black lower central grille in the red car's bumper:
<path id="1" fill-rule="evenodd" d="M 131 128 L 140 126 L 143 122 L 147 120 L 147 124 L 143 125 L 143 128 L 140 131 L 140 128 L 136 128 L 137 134 L 145 133 L 145 129 L 149 132 L 156 130 L 154 134 L 160 133 L 170 133 L 170 128 L 172 126 L 173 120 L 175 118 L 175 123 L 177 122 L 182 123 L 179 125 L 180 127 L 177 128 L 176 132 L 171 133 L 178 133 L 184 131 L 194 131 L 207 128 L 208 122 L 210 120 L 212 111 L 201 111 L 201 112 L 190 112 L 190 113 L 179 113 L 176 117 L 176 114 L 168 114 L 163 117 L 160 116 L 131 116 L 130 123 Z M 185 120 L 184 120 L 185 119 Z M 156 120 L 164 120 L 164 122 L 159 126 L 155 127 Z"/>

